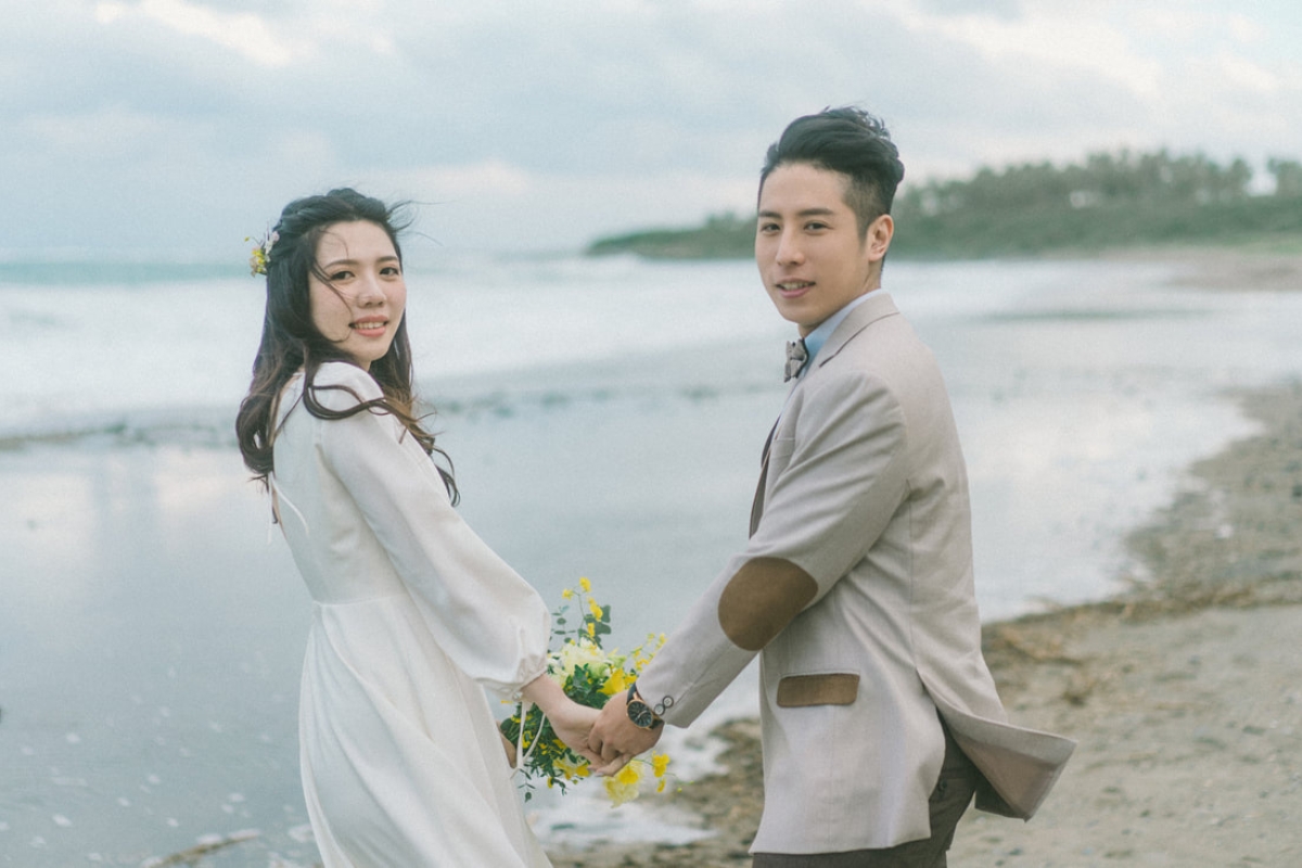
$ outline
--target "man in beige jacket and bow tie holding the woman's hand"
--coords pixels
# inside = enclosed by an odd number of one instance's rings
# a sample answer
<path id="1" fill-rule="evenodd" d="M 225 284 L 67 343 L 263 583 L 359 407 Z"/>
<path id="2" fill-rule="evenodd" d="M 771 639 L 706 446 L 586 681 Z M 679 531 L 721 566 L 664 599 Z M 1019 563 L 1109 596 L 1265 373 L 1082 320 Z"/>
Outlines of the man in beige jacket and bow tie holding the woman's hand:
<path id="1" fill-rule="evenodd" d="M 976 807 L 1029 819 L 1074 743 L 1006 722 L 980 652 L 967 478 L 926 346 L 881 289 L 904 165 L 854 108 L 768 150 L 755 260 L 803 338 L 751 537 L 589 744 L 617 766 L 756 655 L 755 868 L 945 864 Z"/>

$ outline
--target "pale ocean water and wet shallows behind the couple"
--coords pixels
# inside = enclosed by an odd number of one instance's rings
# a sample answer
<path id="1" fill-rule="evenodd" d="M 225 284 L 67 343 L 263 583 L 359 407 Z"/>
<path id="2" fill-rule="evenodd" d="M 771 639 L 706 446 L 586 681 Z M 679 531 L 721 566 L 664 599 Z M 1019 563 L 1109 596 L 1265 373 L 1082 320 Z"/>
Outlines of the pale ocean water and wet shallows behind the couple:
<path id="1" fill-rule="evenodd" d="M 39 267 L 38 267 L 39 265 Z M 0 267 L 0 864 L 310 865 L 297 772 L 309 601 L 230 423 L 258 281 L 195 265 Z M 896 263 L 945 373 L 986 618 L 1105 596 L 1184 468 L 1253 431 L 1226 390 L 1298 376 L 1302 294 L 1176 264 Z M 749 263 L 410 265 L 422 394 L 462 513 L 548 600 L 589 576 L 615 640 L 671 630 L 745 541 L 783 342 Z M 708 768 L 711 721 L 669 746 Z M 578 790 L 546 841 L 689 834 Z M 672 820 L 672 819 L 671 819 Z"/>

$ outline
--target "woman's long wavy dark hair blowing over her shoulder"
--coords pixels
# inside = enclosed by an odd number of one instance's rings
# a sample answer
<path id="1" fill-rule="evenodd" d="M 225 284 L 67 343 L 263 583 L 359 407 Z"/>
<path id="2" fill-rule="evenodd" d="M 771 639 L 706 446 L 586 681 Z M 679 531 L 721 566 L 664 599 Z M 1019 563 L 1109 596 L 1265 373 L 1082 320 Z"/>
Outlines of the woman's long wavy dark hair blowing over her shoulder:
<path id="1" fill-rule="evenodd" d="M 434 444 L 434 435 L 422 427 L 414 413 L 415 396 L 411 388 L 411 345 L 408 341 L 406 316 L 398 323 L 389 351 L 371 363 L 371 377 L 384 392 L 383 398 L 363 401 L 352 389 L 341 385 L 316 387 L 316 371 L 326 362 L 355 360 L 336 342 L 327 338 L 312 323 L 309 276 L 323 282 L 329 278 L 316 263 L 316 245 L 326 230 L 337 223 L 374 223 L 393 242 L 398 262 L 402 249 L 398 233 L 409 223 L 402 216 L 404 206 L 387 206 L 379 199 L 365 197 L 344 187 L 324 195 L 296 199 L 285 206 L 280 221 L 273 226 L 276 241 L 267 258 L 267 311 L 262 321 L 262 344 L 253 363 L 253 383 L 249 394 L 240 402 L 236 416 L 236 436 L 245 465 L 254 479 L 263 485 L 275 470 L 272 445 L 276 437 L 276 401 L 289 379 L 303 371 L 303 407 L 319 419 L 346 419 L 358 413 L 389 413 L 417 439 L 431 457 L 437 453 L 452 462 L 447 453 Z M 357 398 L 348 410 L 331 410 L 318 398 L 318 389 L 342 389 Z M 448 496 L 456 504 L 457 484 L 450 470 L 439 467 Z"/>

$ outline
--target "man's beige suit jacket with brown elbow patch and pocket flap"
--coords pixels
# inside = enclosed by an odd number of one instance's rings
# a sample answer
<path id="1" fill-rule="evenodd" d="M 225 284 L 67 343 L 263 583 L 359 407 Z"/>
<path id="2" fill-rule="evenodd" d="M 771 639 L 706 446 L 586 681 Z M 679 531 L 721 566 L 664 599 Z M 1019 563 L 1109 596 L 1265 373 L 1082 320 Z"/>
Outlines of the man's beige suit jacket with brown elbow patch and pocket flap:
<path id="1" fill-rule="evenodd" d="M 980 651 L 967 475 L 930 350 L 887 294 L 854 308 L 793 389 L 746 549 L 638 679 L 686 726 L 756 655 L 764 815 L 755 852 L 931 834 L 937 712 L 1029 819 L 1074 742 L 1008 724 Z"/>

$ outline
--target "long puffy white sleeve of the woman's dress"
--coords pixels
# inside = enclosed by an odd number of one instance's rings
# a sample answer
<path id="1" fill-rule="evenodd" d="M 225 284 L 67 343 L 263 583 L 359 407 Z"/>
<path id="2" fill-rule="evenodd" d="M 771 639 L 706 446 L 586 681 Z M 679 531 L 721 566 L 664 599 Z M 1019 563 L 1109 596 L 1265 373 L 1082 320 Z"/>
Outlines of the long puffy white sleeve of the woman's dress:
<path id="1" fill-rule="evenodd" d="M 363 401 L 381 397 L 361 368 L 329 364 L 322 373 L 327 367 L 318 387 L 344 385 Z M 342 389 L 318 388 L 316 396 L 331 409 L 357 403 Z M 402 424 L 383 411 L 323 420 L 320 449 L 453 662 L 500 694 L 543 674 L 547 606 L 452 508 L 437 468 Z"/>

